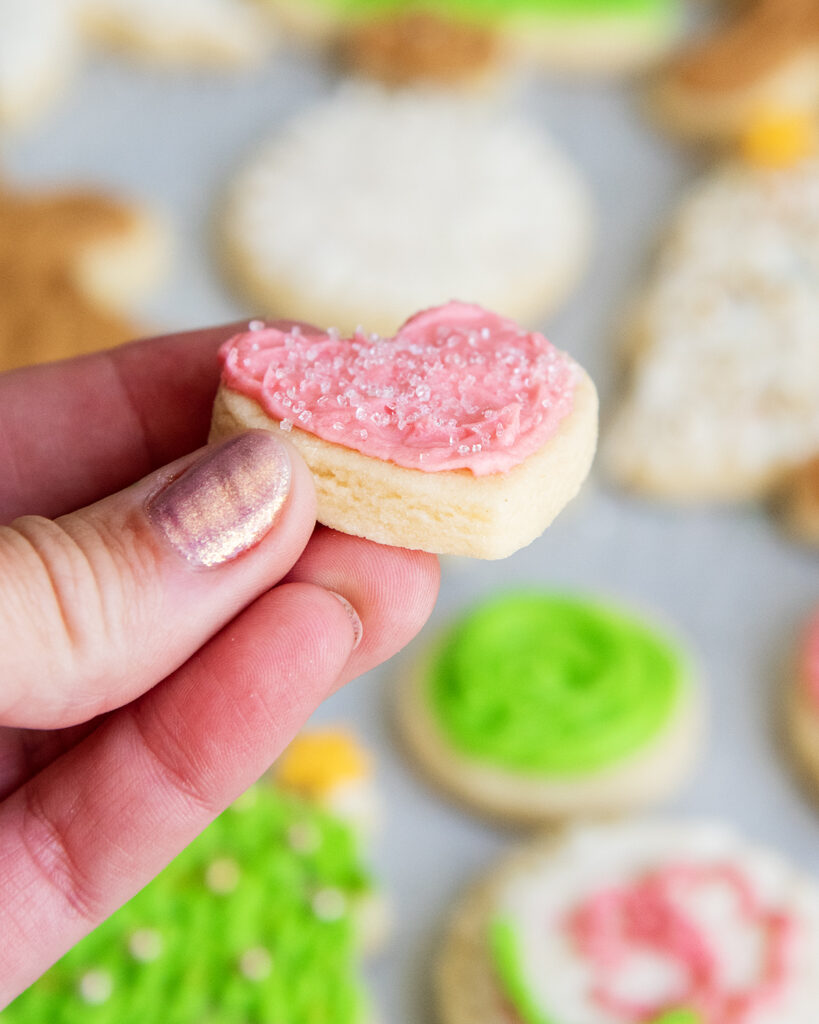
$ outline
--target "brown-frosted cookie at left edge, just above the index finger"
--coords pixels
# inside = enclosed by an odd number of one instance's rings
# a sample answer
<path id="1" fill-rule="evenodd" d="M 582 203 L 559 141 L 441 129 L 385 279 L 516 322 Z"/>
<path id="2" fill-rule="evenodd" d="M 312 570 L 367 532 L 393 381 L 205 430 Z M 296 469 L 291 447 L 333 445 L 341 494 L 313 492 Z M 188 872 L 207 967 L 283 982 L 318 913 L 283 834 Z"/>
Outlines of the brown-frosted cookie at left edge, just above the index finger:
<path id="1" fill-rule="evenodd" d="M 153 284 L 164 250 L 157 222 L 125 203 L 0 184 L 0 370 L 134 337 L 125 307 Z"/>

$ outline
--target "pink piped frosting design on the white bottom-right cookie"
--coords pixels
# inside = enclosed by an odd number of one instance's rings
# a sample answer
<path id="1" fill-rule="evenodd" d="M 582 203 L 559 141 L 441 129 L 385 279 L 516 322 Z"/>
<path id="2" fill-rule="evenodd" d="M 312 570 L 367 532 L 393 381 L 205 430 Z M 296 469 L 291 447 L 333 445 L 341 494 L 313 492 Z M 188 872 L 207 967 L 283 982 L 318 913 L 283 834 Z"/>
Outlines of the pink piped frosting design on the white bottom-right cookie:
<path id="1" fill-rule="evenodd" d="M 719 936 L 708 935 L 686 912 L 686 900 L 697 889 L 715 886 L 727 890 L 743 930 L 758 930 L 763 940 L 758 978 L 746 988 L 727 983 Z M 781 991 L 793 928 L 787 914 L 760 904 L 748 880 L 732 864 L 656 871 L 632 886 L 597 893 L 569 921 L 574 942 L 595 968 L 595 999 L 608 1013 L 636 1022 L 684 1008 L 697 1013 L 703 1024 L 744 1024 Z M 617 993 L 618 974 L 629 956 L 646 953 L 678 969 L 680 990 L 661 1004 Z"/>

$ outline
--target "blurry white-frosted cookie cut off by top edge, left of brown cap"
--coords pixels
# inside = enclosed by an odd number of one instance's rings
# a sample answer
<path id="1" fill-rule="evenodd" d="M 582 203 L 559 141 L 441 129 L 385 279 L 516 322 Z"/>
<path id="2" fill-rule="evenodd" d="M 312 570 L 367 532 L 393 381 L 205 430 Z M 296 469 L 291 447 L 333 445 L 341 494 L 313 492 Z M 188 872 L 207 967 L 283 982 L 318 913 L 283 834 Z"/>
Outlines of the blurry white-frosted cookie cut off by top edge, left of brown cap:
<path id="1" fill-rule="evenodd" d="M 77 0 L 93 39 L 173 63 L 260 59 L 272 29 L 252 0 Z"/>

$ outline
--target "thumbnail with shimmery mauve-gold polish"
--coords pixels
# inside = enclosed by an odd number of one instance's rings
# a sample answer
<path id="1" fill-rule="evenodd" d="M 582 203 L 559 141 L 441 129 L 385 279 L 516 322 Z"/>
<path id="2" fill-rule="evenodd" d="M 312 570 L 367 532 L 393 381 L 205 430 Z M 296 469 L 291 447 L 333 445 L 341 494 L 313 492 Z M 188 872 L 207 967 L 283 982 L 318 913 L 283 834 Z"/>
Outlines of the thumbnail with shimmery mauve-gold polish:
<path id="1" fill-rule="evenodd" d="M 208 452 L 147 503 L 148 519 L 191 565 L 221 565 L 275 525 L 290 493 L 285 446 L 257 430 Z"/>

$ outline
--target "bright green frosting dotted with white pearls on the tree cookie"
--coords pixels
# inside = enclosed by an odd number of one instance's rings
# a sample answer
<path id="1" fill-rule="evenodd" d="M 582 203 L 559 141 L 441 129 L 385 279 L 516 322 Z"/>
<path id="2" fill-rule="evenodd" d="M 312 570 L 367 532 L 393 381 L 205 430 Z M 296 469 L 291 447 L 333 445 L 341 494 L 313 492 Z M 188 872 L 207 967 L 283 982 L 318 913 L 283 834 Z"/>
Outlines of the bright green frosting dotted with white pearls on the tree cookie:
<path id="1" fill-rule="evenodd" d="M 347 824 L 259 784 L 0 1020 L 358 1024 L 352 904 L 368 891 Z"/>

